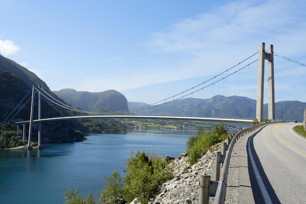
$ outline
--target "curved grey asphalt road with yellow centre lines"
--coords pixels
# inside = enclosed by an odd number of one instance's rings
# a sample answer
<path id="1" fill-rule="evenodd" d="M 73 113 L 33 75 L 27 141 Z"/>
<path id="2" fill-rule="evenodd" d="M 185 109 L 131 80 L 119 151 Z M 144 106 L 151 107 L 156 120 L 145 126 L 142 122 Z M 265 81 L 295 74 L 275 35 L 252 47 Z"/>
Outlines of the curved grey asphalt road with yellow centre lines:
<path id="1" fill-rule="evenodd" d="M 256 164 L 249 166 L 255 203 L 306 203 L 306 138 L 293 131 L 296 125 L 302 124 L 267 125 L 249 138 L 247 149 Z"/>

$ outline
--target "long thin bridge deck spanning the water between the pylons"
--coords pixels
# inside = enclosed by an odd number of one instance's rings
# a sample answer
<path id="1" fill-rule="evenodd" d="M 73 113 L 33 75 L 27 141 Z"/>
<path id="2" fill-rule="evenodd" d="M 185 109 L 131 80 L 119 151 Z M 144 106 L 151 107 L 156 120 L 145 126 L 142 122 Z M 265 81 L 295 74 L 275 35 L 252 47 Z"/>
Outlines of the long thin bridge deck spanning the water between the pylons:
<path id="1" fill-rule="evenodd" d="M 188 117 L 188 116 L 156 116 L 156 115 L 81 115 L 81 116 L 66 116 L 36 119 L 33 122 L 44 122 L 54 120 L 68 120 L 68 119 L 90 119 L 90 118 L 129 118 L 129 119 L 165 119 L 165 120 L 193 120 L 193 121 L 210 121 L 210 122 L 224 122 L 224 123 L 247 123 L 252 124 L 253 120 L 246 119 L 230 119 L 230 118 L 210 118 L 210 117 Z M 16 124 L 29 123 L 30 121 L 16 122 Z"/>

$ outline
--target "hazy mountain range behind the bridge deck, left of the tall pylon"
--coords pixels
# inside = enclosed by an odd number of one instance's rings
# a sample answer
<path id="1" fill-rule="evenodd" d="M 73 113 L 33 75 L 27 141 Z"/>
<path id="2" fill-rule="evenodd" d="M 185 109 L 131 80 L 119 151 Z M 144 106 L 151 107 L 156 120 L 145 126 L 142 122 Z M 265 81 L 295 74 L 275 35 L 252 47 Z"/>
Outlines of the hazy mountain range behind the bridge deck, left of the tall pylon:
<path id="1" fill-rule="evenodd" d="M 184 98 L 174 102 L 144 107 L 135 114 L 156 114 L 156 115 L 184 115 L 203 117 L 233 117 L 233 118 L 255 118 L 256 100 L 248 97 L 216 95 L 209 99 Z M 254 115 L 254 116 L 253 116 Z"/>

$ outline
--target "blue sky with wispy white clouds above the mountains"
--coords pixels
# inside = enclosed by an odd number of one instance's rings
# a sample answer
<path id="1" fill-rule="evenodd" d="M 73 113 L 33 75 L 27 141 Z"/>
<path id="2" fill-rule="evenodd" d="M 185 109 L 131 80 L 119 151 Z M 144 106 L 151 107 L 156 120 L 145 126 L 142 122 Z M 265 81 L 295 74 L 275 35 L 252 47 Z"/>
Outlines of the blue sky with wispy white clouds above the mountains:
<path id="1" fill-rule="evenodd" d="M 262 42 L 306 64 L 305 10 L 304 0 L 0 0 L 0 54 L 52 91 L 113 89 L 152 104 L 182 97 L 172 96 L 240 63 Z M 243 67 L 257 58 L 184 94 L 256 99 L 258 62 Z M 275 101 L 306 102 L 306 67 L 276 56 L 274 63 Z"/>

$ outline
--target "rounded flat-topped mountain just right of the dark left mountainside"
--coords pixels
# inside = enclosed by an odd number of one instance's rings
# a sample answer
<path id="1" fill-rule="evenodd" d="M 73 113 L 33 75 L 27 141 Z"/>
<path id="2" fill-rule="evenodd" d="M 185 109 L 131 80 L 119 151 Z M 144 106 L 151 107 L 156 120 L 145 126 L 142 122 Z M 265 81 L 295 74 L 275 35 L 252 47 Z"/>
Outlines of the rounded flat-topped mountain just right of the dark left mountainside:
<path id="1" fill-rule="evenodd" d="M 73 107 L 81 108 L 83 111 L 102 113 L 128 110 L 128 100 L 115 90 L 92 93 L 63 89 L 53 92 Z"/>

